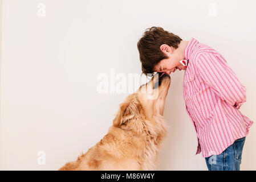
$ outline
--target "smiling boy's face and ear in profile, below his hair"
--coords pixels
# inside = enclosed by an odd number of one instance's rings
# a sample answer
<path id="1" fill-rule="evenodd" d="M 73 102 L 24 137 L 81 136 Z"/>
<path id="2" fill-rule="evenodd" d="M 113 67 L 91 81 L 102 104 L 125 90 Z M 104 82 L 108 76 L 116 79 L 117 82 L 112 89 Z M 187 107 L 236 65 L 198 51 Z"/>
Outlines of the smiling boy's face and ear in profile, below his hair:
<path id="1" fill-rule="evenodd" d="M 160 49 L 165 55 L 168 56 L 168 59 L 163 59 L 159 63 L 157 63 L 154 67 L 155 72 L 166 72 L 168 75 L 170 73 L 174 73 L 178 70 L 185 70 L 186 68 L 180 63 L 183 58 L 183 53 L 179 51 L 179 49 L 174 49 L 173 47 L 169 47 L 166 44 L 162 44 Z"/>

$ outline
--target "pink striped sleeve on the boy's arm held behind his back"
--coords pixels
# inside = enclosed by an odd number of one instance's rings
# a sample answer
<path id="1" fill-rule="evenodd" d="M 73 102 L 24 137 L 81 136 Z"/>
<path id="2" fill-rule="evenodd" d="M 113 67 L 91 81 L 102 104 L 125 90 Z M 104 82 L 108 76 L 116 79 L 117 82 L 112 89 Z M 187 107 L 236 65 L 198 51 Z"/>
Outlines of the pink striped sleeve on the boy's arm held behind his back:
<path id="1" fill-rule="evenodd" d="M 228 104 L 238 108 L 246 102 L 246 88 L 227 65 L 222 55 L 202 53 L 196 60 L 202 79 Z"/>

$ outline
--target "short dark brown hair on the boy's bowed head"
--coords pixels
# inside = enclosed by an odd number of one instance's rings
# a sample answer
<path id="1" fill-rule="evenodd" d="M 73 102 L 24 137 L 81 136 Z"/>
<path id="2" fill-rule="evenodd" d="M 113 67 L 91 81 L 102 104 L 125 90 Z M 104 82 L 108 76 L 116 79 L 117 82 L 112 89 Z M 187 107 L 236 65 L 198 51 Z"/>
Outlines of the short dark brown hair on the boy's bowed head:
<path id="1" fill-rule="evenodd" d="M 147 28 L 143 36 L 137 43 L 140 54 L 141 70 L 144 74 L 153 73 L 153 68 L 162 59 L 167 59 L 162 53 L 160 46 L 166 44 L 177 49 L 181 38 L 171 32 L 165 31 L 161 27 Z"/>

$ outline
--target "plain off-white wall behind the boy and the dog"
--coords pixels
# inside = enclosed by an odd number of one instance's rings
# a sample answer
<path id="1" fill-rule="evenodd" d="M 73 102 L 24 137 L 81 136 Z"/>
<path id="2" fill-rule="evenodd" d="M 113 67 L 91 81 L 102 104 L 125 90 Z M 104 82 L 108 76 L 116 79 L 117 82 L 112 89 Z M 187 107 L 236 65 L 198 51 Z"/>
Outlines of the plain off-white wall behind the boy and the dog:
<path id="1" fill-rule="evenodd" d="M 45 16 L 38 16 L 39 3 Z M 111 68 L 141 73 L 136 43 L 152 26 L 183 40 L 196 38 L 224 55 L 247 89 L 241 111 L 255 122 L 255 7 L 253 0 L 3 0 L 0 169 L 55 170 L 99 142 L 128 93 L 97 93 L 96 76 Z M 157 169 L 206 170 L 205 159 L 194 155 L 183 74 L 171 74 L 164 111 L 170 129 Z M 242 170 L 256 169 L 254 125 Z M 39 151 L 45 164 L 38 164 Z"/>

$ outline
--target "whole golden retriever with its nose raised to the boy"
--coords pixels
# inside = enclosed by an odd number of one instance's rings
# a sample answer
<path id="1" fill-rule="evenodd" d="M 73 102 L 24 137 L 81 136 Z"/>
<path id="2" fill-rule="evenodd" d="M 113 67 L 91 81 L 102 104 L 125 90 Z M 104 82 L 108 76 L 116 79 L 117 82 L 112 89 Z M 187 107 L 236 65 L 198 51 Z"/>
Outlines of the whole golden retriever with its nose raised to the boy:
<path id="1" fill-rule="evenodd" d="M 108 133 L 86 154 L 59 170 L 153 170 L 163 139 L 170 76 L 156 74 L 120 104 Z"/>

